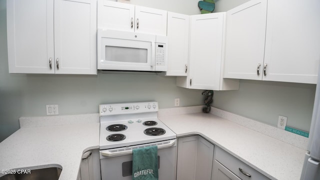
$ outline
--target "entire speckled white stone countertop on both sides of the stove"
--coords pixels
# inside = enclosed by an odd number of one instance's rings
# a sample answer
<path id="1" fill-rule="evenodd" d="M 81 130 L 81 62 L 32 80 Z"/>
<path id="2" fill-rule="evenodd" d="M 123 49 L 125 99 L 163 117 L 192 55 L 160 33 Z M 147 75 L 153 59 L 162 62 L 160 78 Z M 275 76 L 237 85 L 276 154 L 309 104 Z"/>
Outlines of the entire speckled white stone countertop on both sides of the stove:
<path id="1" fill-rule="evenodd" d="M 201 107 L 159 109 L 158 118 L 178 137 L 199 134 L 271 179 L 299 179 L 307 138 L 214 107 L 211 111 L 224 118 L 205 114 Z M 21 117 L 21 128 L 0 143 L 0 169 L 62 167 L 59 179 L 75 180 L 82 153 L 99 148 L 98 117 L 98 113 Z M 290 137 L 278 140 L 272 134 Z"/>

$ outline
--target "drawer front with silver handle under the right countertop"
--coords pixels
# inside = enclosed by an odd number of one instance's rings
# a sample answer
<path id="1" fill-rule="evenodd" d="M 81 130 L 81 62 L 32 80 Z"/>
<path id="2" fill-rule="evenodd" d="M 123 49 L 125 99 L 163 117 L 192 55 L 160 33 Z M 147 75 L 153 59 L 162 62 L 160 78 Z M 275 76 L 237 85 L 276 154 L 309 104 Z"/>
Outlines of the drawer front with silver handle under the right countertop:
<path id="1" fill-rule="evenodd" d="M 269 179 L 260 172 L 256 171 L 252 167 L 242 162 L 241 160 L 237 159 L 233 155 L 222 150 L 221 148 L 216 148 L 215 159 L 241 179 Z M 242 169 L 243 173 L 239 170 L 239 168 Z M 244 173 L 250 174 L 251 177 L 244 175 Z"/>

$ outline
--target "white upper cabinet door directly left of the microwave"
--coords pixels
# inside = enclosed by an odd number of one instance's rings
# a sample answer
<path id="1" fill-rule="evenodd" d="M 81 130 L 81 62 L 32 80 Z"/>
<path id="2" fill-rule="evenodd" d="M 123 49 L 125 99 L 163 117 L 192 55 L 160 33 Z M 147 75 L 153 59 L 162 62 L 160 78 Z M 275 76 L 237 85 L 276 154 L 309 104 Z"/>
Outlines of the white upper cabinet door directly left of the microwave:
<path id="1" fill-rule="evenodd" d="M 54 0 L 55 73 L 96 74 L 96 0 Z"/>

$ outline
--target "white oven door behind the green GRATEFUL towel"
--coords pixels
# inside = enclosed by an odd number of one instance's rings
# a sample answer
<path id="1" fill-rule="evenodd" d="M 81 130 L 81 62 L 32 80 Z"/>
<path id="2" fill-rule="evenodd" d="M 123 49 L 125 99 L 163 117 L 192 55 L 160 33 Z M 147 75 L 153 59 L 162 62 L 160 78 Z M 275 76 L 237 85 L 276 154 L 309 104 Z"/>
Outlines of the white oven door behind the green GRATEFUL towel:
<path id="1" fill-rule="evenodd" d="M 158 146 L 159 180 L 174 180 L 176 169 L 176 140 L 167 140 L 130 147 L 100 150 L 100 165 L 102 180 L 132 179 L 132 147 L 149 145 Z"/>

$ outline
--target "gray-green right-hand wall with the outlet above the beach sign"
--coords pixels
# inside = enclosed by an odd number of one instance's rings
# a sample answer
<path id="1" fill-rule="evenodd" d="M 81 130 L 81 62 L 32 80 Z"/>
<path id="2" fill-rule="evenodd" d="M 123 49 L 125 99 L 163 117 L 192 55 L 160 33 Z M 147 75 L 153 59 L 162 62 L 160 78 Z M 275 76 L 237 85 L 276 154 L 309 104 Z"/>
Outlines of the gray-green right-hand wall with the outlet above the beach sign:
<path id="1" fill-rule="evenodd" d="M 249 0 L 215 0 L 214 12 L 227 11 Z M 273 126 L 278 115 L 287 125 L 309 131 L 315 84 L 240 80 L 236 91 L 217 91 L 213 106 Z"/>

